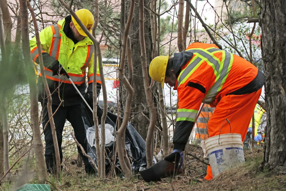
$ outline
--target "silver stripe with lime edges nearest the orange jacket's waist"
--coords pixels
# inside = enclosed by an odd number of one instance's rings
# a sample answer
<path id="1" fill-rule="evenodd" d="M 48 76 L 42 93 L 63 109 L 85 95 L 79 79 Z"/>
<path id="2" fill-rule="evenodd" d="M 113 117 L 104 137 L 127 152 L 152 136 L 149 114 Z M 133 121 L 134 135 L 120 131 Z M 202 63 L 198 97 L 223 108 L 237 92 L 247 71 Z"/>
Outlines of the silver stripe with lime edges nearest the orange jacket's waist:
<path id="1" fill-rule="evenodd" d="M 204 103 L 212 103 L 212 101 L 215 99 L 215 96 L 217 96 L 217 93 L 223 87 L 223 84 L 226 81 L 226 78 L 229 75 L 229 71 L 232 66 L 233 55 L 224 50 L 221 51 L 223 53 L 223 58 L 224 58 L 224 60 L 222 60 L 223 63 L 222 69 L 218 75 L 218 78 L 215 81 L 215 84 L 207 92 L 206 97 L 203 100 Z"/>

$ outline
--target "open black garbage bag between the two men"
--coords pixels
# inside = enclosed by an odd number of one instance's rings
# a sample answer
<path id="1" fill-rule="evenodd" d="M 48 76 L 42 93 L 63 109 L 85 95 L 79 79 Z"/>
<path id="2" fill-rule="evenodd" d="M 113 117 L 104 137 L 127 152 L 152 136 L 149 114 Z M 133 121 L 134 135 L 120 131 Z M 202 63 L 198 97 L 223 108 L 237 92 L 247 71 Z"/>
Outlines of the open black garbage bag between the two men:
<path id="1" fill-rule="evenodd" d="M 97 117 L 99 125 L 101 124 L 102 114 L 103 114 L 102 108 L 99 105 L 97 105 Z M 86 130 L 88 130 L 88 128 L 90 127 L 94 127 L 93 115 L 85 104 L 83 104 L 82 115 Z M 119 120 L 122 120 L 122 118 L 119 117 Z M 117 115 L 108 111 L 105 124 L 110 124 L 113 128 L 115 128 L 117 126 L 116 121 L 117 121 Z M 107 153 L 107 157 L 105 158 L 106 174 L 110 172 L 112 168 L 111 164 L 114 163 L 114 156 L 115 156 L 114 144 L 116 143 L 111 141 L 109 144 L 105 145 L 105 151 Z M 139 171 L 145 170 L 147 167 L 145 141 L 129 122 L 125 131 L 125 149 L 131 162 L 133 174 L 136 175 L 139 173 Z M 95 146 L 88 143 L 87 151 L 88 151 L 87 154 L 93 159 L 95 164 L 97 164 L 97 155 Z M 90 164 L 92 165 L 91 161 Z M 153 157 L 153 164 L 156 164 L 155 157 Z M 121 172 L 121 167 L 119 165 L 119 159 L 117 154 L 115 158 L 115 165 L 118 167 L 115 168 L 117 175 L 121 174 L 122 172 Z"/>

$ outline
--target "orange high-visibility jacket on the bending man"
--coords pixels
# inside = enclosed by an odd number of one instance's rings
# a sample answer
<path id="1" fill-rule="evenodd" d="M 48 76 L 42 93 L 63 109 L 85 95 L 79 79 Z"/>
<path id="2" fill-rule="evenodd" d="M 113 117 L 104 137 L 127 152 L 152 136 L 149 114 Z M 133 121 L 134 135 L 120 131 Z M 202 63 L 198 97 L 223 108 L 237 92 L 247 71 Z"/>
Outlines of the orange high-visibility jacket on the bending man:
<path id="1" fill-rule="evenodd" d="M 174 149 L 184 150 L 202 102 L 215 107 L 223 96 L 255 92 L 264 82 L 257 67 L 214 44 L 195 42 L 175 53 L 173 69 L 178 91 Z"/>

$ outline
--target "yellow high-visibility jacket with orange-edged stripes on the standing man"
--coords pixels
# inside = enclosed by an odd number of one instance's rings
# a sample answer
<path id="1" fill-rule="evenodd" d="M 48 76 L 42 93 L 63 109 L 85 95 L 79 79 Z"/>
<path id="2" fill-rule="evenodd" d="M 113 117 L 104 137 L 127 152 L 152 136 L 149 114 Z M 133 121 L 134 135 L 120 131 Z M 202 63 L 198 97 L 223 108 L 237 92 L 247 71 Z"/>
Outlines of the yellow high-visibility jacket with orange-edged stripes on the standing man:
<path id="1" fill-rule="evenodd" d="M 85 94 L 86 91 L 86 77 L 88 77 L 88 84 L 91 84 L 90 87 L 92 87 L 93 82 L 93 42 L 90 38 L 86 37 L 82 41 L 78 41 L 74 44 L 63 31 L 66 21 L 66 24 L 69 24 L 71 19 L 70 16 L 69 19 L 67 18 L 68 17 L 58 21 L 56 25 L 46 27 L 39 33 L 45 76 L 48 80 L 50 92 L 53 93 L 56 90 L 56 92 L 52 94 L 53 105 L 59 104 L 60 99 L 64 100 L 63 106 L 82 103 L 82 99 L 66 76 L 52 76 L 51 69 L 56 60 L 60 62 L 82 94 Z M 39 63 L 35 37 L 30 40 L 30 49 L 33 61 Z M 88 72 L 86 75 L 87 68 Z M 42 74 L 40 74 L 38 80 L 39 101 L 43 101 L 43 97 L 46 98 L 41 76 Z M 63 84 L 61 84 L 62 82 Z M 59 84 L 61 85 L 59 86 Z M 97 87 L 101 87 L 100 84 L 99 64 L 97 64 L 97 85 L 99 85 Z M 57 89 L 57 87 L 59 87 L 59 89 Z"/>

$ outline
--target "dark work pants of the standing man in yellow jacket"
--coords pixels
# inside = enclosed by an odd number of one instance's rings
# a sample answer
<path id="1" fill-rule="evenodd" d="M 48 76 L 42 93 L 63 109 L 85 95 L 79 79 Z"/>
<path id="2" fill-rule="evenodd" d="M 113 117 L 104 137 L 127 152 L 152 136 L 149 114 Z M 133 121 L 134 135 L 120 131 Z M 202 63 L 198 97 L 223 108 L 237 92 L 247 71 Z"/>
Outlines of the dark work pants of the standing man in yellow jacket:
<path id="1" fill-rule="evenodd" d="M 49 120 L 48 110 L 46 104 L 42 104 L 43 109 L 43 128 L 47 124 L 47 121 Z M 52 105 L 52 112 L 54 113 L 57 110 L 58 106 Z M 60 106 L 57 112 L 54 115 L 54 122 L 55 122 L 55 128 L 57 133 L 57 143 L 59 146 L 60 151 L 60 163 L 63 161 L 63 153 L 61 149 L 62 145 L 62 133 L 63 128 L 65 125 L 66 120 L 68 120 L 71 123 L 71 126 L 74 129 L 74 136 L 76 137 L 77 141 L 82 145 L 84 151 L 87 153 L 87 144 L 86 144 L 86 133 L 85 128 L 83 124 L 83 119 L 81 115 L 81 105 L 73 105 L 73 106 L 67 106 L 62 107 Z M 46 150 L 45 150 L 45 159 L 46 159 L 46 165 L 47 169 L 54 172 L 55 167 L 55 147 L 53 142 L 53 136 L 52 136 L 52 130 L 50 123 L 47 124 L 46 128 L 44 129 L 44 135 L 45 135 L 45 142 L 46 142 Z M 80 147 L 77 147 L 78 152 L 80 153 L 80 156 L 83 158 L 83 162 L 85 165 L 86 173 L 94 173 L 94 169 L 88 162 L 88 158 L 85 157 L 80 149 Z"/>

